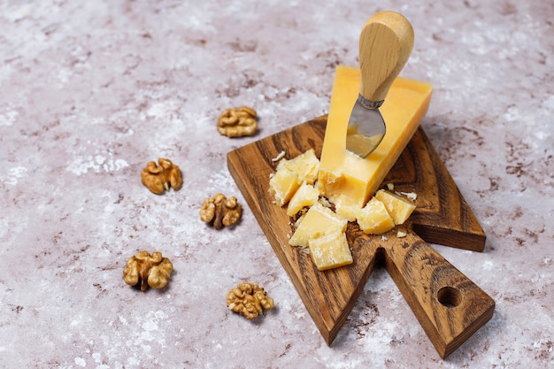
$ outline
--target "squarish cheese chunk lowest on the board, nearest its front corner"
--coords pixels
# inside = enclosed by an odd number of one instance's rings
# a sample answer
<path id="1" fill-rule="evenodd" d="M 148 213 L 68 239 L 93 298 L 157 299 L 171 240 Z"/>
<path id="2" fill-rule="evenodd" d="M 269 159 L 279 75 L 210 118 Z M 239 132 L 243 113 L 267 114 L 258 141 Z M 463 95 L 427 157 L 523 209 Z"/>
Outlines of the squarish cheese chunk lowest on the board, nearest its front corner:
<path id="1" fill-rule="evenodd" d="M 344 232 L 334 232 L 314 238 L 309 242 L 313 264 L 319 271 L 352 264 L 352 253 Z"/>

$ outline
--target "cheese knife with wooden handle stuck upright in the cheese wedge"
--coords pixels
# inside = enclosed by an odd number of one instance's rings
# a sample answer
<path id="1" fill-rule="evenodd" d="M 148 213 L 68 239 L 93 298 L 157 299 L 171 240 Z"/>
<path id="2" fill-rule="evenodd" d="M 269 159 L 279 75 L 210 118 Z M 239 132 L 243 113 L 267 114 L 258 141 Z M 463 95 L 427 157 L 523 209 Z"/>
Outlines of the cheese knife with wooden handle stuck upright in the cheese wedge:
<path id="1" fill-rule="evenodd" d="M 367 19 L 359 37 L 360 90 L 346 135 L 346 149 L 367 158 L 386 133 L 379 111 L 392 82 L 413 48 L 413 28 L 397 12 L 378 12 Z"/>

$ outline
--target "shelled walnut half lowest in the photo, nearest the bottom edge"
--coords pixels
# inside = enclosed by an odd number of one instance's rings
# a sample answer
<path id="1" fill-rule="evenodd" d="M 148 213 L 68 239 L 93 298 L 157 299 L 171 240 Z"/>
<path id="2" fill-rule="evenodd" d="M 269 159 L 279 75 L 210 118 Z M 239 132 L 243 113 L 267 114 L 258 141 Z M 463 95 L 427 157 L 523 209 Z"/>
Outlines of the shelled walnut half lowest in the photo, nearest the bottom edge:
<path id="1" fill-rule="evenodd" d="M 242 314 L 246 319 L 254 319 L 262 315 L 263 309 L 273 309 L 273 298 L 267 296 L 264 288 L 255 283 L 239 283 L 227 292 L 227 308 Z"/>

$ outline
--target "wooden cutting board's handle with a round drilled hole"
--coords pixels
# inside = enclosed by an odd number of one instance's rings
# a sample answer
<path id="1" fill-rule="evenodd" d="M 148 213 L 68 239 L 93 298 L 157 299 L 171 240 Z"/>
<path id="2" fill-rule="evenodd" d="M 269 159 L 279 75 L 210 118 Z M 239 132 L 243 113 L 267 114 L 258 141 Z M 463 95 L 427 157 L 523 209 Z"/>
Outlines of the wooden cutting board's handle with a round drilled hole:
<path id="1" fill-rule="evenodd" d="M 402 240 L 402 241 L 400 241 Z M 417 234 L 385 248 L 385 265 L 444 358 L 492 317 L 495 301 Z"/>

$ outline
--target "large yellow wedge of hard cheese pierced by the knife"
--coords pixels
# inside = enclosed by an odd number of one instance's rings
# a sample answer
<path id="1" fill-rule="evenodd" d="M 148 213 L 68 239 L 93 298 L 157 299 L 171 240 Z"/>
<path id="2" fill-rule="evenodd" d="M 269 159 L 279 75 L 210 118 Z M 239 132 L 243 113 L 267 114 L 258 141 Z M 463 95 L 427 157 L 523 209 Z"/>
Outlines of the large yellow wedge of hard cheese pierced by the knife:
<path id="1" fill-rule="evenodd" d="M 426 114 L 433 90 L 424 82 L 396 78 L 380 108 L 387 133 L 367 158 L 359 158 L 346 150 L 346 129 L 350 111 L 358 98 L 359 83 L 357 67 L 336 67 L 318 187 L 319 192 L 337 207 L 361 208 L 373 196 Z"/>

